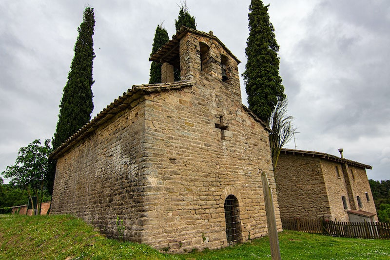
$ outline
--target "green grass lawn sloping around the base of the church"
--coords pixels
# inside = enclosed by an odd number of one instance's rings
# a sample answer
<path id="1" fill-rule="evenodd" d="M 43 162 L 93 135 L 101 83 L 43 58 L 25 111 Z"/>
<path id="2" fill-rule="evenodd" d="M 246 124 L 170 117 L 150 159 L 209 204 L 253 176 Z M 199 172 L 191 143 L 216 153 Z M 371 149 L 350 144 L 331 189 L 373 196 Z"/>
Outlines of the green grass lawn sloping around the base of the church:
<path id="1" fill-rule="evenodd" d="M 390 259 L 390 240 L 279 233 L 282 259 Z M 0 259 L 271 259 L 267 237 L 219 250 L 170 255 L 147 245 L 106 239 L 68 215 L 0 215 Z"/>

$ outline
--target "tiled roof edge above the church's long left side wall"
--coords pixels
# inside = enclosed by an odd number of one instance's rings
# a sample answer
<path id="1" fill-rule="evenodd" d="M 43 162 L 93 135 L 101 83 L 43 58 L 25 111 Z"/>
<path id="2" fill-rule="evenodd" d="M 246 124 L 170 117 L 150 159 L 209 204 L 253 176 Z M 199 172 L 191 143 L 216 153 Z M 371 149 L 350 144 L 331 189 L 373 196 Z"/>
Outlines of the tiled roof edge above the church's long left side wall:
<path id="1" fill-rule="evenodd" d="M 133 85 L 131 89 L 128 89 L 127 92 L 124 92 L 122 96 L 119 96 L 116 100 L 114 100 L 114 102 L 104 108 L 103 111 L 101 111 L 94 119 L 86 123 L 73 136 L 71 136 L 56 150 L 54 150 L 51 153 L 50 158 L 57 159 L 60 154 L 64 153 L 66 150 L 72 147 L 72 145 L 78 142 L 78 140 L 81 140 L 89 133 L 95 131 L 99 125 L 114 117 L 119 111 L 122 111 L 127 107 L 137 106 L 139 102 L 138 100 L 141 96 L 152 92 L 161 92 L 171 89 L 180 89 L 182 87 L 190 87 L 194 83 L 194 81 L 182 80 L 171 83 Z"/>

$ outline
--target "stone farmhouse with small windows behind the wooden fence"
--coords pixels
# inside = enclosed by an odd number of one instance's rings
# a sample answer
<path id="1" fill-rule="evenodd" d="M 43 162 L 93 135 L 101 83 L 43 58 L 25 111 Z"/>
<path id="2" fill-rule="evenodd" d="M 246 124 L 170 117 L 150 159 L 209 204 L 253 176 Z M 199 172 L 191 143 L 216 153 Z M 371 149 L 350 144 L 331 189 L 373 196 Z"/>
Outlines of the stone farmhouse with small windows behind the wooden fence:
<path id="1" fill-rule="evenodd" d="M 275 169 L 283 219 L 378 221 L 366 169 L 330 154 L 282 149 Z"/>

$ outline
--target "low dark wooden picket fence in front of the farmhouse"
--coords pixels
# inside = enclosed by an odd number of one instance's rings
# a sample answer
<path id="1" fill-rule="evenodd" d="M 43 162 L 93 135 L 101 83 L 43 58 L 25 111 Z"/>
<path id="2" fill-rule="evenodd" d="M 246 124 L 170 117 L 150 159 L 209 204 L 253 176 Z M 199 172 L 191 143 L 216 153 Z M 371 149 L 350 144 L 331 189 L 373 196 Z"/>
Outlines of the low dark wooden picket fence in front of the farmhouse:
<path id="1" fill-rule="evenodd" d="M 390 224 L 383 222 L 339 222 L 328 220 L 282 219 L 284 229 L 332 237 L 390 239 Z"/>

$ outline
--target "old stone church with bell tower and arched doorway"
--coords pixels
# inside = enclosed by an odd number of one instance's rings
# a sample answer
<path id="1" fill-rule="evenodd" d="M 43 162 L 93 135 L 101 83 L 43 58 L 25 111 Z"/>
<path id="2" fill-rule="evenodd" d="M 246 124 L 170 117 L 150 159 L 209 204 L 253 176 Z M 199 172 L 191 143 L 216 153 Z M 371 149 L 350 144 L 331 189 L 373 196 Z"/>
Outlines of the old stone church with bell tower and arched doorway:
<path id="1" fill-rule="evenodd" d="M 240 61 L 185 27 L 150 60 L 164 83 L 134 85 L 51 155 L 51 212 L 169 252 L 215 249 L 267 235 L 265 171 L 281 231 L 270 129 L 241 103 Z"/>

